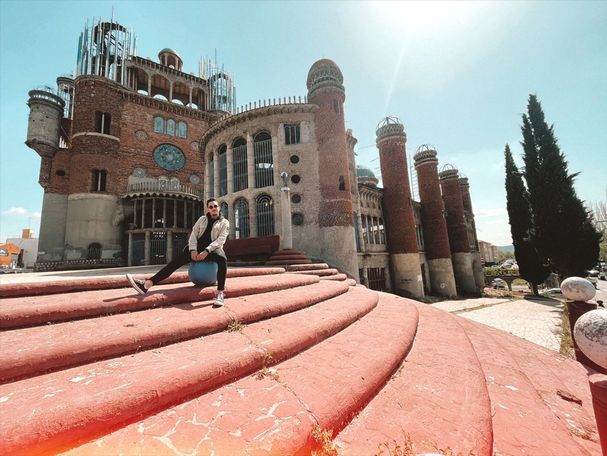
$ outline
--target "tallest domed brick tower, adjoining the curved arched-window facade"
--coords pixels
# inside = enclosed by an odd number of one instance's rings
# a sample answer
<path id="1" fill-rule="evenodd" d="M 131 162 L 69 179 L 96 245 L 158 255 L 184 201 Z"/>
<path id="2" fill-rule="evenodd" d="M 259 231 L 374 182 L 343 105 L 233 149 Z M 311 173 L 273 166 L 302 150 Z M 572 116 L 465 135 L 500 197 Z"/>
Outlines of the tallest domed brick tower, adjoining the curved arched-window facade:
<path id="1" fill-rule="evenodd" d="M 344 122 L 344 77 L 331 60 L 317 61 L 308 72 L 308 103 L 315 103 L 320 197 L 318 223 L 322 255 L 358 278 L 354 218 Z"/>

